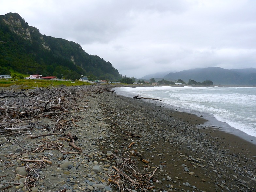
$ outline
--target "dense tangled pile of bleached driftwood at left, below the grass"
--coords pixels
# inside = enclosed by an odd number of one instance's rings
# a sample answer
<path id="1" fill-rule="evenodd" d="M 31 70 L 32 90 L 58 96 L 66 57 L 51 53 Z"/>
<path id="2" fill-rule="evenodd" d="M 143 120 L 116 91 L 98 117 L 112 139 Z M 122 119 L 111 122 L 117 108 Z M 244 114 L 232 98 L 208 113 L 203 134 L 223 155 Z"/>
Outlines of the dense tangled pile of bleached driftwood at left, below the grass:
<path id="1" fill-rule="evenodd" d="M 54 118 L 56 123 L 53 131 L 65 129 L 70 123 L 75 125 L 79 118 L 72 115 L 75 111 L 86 110 L 78 108 L 75 101 L 78 95 L 75 88 L 38 88 L 29 92 L 7 90 L 0 93 L 0 134 L 24 134 L 25 131 L 37 126 L 31 123 L 35 118 Z"/>

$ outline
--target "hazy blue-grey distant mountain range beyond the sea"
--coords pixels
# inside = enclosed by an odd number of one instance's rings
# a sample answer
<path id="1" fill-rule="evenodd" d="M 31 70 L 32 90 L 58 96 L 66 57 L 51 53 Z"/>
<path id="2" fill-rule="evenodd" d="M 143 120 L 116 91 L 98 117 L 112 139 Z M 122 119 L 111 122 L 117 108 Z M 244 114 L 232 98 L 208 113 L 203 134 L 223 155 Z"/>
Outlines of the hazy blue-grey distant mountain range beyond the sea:
<path id="1" fill-rule="evenodd" d="M 204 80 L 211 80 L 214 85 L 245 85 L 256 86 L 256 69 L 223 69 L 220 67 L 208 67 L 184 70 L 181 72 L 170 72 L 166 75 L 159 76 L 161 73 L 152 74 L 151 77 L 146 75 L 144 77 L 162 78 L 162 79 L 182 79 L 186 83 L 189 79 L 203 82 Z M 164 74 L 164 73 L 163 73 Z M 144 79 L 140 78 L 140 79 Z M 150 79 L 149 78 L 149 79 Z M 146 78 L 145 78 L 146 79 Z"/>

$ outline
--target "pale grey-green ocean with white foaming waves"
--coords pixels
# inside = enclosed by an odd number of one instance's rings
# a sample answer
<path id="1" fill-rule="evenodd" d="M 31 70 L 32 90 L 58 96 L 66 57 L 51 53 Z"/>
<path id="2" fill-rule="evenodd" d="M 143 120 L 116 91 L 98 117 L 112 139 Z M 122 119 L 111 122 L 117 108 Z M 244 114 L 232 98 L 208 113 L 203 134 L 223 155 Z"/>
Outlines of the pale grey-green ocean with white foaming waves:
<path id="1" fill-rule="evenodd" d="M 120 87 L 115 88 L 115 92 L 127 97 L 139 94 L 160 99 L 163 102 L 157 101 L 159 104 L 195 115 L 208 114 L 248 136 L 256 137 L 255 87 Z"/>

